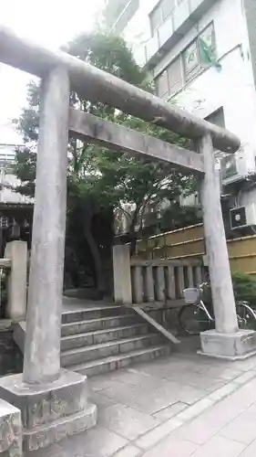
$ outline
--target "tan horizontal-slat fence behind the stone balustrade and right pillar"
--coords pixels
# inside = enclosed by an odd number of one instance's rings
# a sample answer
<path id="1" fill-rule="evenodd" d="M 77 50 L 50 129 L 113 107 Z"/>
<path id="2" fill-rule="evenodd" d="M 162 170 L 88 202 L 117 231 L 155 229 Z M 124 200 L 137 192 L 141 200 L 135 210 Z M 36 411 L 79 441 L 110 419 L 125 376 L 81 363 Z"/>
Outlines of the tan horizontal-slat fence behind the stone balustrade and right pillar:
<path id="1" fill-rule="evenodd" d="M 242 271 L 256 278 L 256 235 L 228 239 L 231 271 Z M 137 258 L 143 260 L 201 260 L 205 256 L 203 225 L 169 231 L 139 240 Z"/>

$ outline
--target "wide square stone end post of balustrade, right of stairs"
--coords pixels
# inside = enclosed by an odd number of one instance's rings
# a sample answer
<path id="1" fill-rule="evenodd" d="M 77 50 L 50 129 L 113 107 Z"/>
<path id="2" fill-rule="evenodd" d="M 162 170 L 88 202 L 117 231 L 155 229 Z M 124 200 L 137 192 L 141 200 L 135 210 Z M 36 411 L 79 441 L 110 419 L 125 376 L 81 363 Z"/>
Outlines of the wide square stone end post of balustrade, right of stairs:
<path id="1" fill-rule="evenodd" d="M 113 246 L 114 300 L 131 304 L 130 254 L 128 245 Z"/>

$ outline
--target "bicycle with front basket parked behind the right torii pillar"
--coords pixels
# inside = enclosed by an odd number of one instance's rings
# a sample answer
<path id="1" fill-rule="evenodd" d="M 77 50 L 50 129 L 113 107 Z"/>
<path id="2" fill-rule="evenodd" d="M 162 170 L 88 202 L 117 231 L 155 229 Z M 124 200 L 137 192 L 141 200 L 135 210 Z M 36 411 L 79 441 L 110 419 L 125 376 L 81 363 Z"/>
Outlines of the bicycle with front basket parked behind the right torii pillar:
<path id="1" fill-rule="evenodd" d="M 215 319 L 201 298 L 205 286 L 209 284 L 202 283 L 198 288 L 189 287 L 183 291 L 187 305 L 180 308 L 178 321 L 182 330 L 189 335 L 200 335 L 200 332 L 215 326 Z M 248 302 L 236 302 L 236 311 L 239 328 L 256 329 L 256 312 Z"/>

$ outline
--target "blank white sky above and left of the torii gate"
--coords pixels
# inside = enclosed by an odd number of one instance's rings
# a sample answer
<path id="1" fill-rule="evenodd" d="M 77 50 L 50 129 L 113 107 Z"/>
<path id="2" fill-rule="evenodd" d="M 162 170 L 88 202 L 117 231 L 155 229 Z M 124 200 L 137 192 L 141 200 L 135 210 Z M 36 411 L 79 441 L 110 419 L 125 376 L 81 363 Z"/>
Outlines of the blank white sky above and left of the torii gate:
<path id="1" fill-rule="evenodd" d="M 0 25 L 20 36 L 58 48 L 90 30 L 105 0 L 0 0 Z M 12 125 L 26 104 L 26 73 L 0 63 L 0 143 L 22 143 Z"/>

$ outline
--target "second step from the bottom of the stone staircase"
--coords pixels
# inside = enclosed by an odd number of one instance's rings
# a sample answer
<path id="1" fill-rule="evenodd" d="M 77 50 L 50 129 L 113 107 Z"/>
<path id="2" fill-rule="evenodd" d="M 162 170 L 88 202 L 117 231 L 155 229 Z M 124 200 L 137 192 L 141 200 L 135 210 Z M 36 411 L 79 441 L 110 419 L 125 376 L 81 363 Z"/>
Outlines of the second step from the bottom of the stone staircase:
<path id="1" fill-rule="evenodd" d="M 149 345 L 159 345 L 163 341 L 162 335 L 148 334 L 124 338 L 117 341 L 110 341 L 100 345 L 89 345 L 87 347 L 77 347 L 61 353 L 60 360 L 62 367 L 77 365 L 97 360 L 108 356 L 128 353 L 137 349 L 148 347 Z"/>

